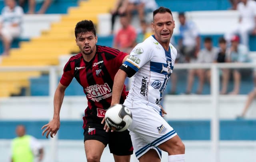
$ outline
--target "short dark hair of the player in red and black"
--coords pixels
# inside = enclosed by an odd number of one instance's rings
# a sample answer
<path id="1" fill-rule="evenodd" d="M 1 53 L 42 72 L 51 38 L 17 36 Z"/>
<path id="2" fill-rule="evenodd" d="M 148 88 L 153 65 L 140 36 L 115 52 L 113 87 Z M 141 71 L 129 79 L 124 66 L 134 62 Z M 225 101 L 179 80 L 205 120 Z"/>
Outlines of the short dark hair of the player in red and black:
<path id="1" fill-rule="evenodd" d="M 91 31 L 96 36 L 96 29 L 93 22 L 91 20 L 79 21 L 75 27 L 75 36 L 77 37 L 79 33 L 86 33 L 88 31 Z"/>

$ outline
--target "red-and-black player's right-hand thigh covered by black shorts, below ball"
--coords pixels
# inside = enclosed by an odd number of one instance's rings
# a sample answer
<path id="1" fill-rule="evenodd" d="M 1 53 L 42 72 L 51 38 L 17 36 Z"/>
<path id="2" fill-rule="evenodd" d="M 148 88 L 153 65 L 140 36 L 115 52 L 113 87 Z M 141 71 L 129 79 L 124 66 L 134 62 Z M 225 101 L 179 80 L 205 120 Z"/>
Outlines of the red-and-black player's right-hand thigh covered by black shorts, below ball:
<path id="1" fill-rule="evenodd" d="M 123 161 L 130 159 L 133 154 L 132 140 L 129 131 L 110 132 L 108 147 L 110 153 L 116 155 L 116 159 L 123 159 Z"/>

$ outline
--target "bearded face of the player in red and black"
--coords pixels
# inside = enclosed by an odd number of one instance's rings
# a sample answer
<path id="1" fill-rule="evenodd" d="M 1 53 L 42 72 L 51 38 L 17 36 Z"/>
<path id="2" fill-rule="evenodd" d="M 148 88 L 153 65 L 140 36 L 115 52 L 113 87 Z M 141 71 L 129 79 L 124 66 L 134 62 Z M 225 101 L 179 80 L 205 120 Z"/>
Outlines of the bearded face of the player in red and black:
<path id="1" fill-rule="evenodd" d="M 98 37 L 91 31 L 86 33 L 79 33 L 76 37 L 76 45 L 84 55 L 90 55 L 96 51 L 96 43 Z"/>

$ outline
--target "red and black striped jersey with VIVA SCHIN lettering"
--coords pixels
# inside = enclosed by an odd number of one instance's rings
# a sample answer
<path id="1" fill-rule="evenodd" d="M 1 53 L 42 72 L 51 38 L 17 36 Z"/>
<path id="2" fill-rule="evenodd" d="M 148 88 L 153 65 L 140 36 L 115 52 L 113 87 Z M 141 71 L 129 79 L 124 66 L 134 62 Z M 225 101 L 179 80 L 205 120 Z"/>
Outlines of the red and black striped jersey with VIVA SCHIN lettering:
<path id="1" fill-rule="evenodd" d="M 70 57 L 64 67 L 60 83 L 68 86 L 73 78 L 83 87 L 88 100 L 84 113 L 84 127 L 88 122 L 101 122 L 112 100 L 114 76 L 128 55 L 117 49 L 96 45 L 96 54 L 90 62 L 83 59 L 82 53 Z M 120 103 L 126 99 L 125 86 Z"/>

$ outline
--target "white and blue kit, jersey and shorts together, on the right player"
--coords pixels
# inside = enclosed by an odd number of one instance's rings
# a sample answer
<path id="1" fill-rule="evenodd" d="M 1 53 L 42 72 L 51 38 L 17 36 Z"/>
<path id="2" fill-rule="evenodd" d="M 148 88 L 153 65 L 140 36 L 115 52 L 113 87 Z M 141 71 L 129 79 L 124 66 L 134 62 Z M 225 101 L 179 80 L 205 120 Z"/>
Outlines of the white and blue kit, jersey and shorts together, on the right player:
<path id="1" fill-rule="evenodd" d="M 166 51 L 152 35 L 134 47 L 120 67 L 129 77 L 134 76 L 124 105 L 132 112 L 128 130 L 137 158 L 150 149 L 156 150 L 161 158 L 158 146 L 177 135 L 161 116 L 159 106 L 176 56 L 172 44 Z"/>

